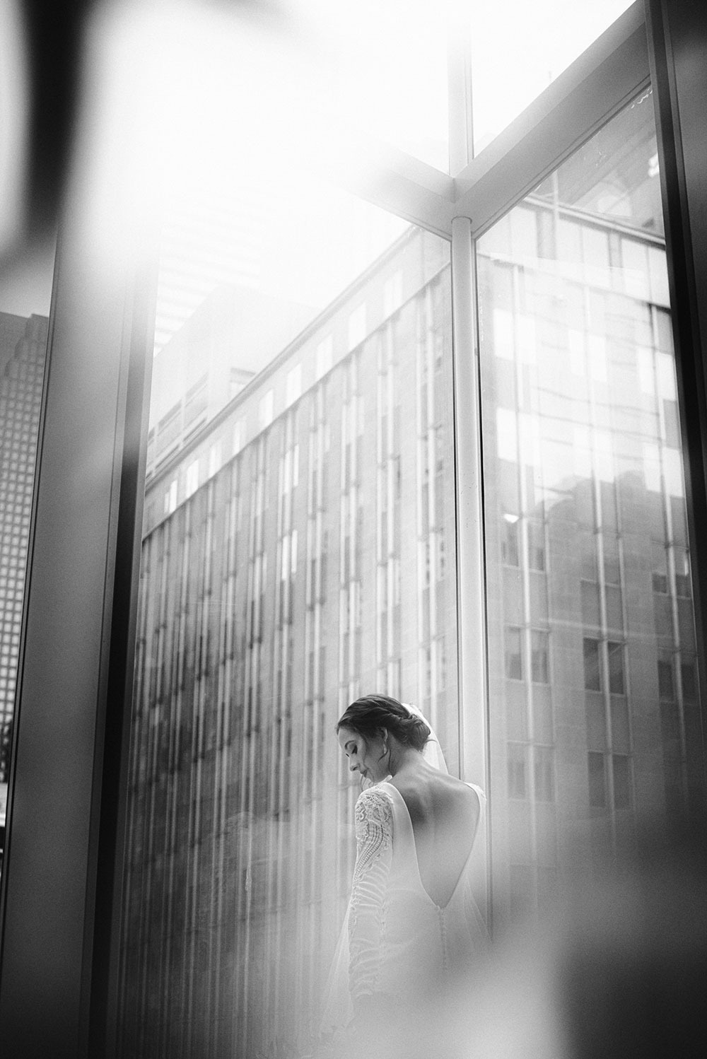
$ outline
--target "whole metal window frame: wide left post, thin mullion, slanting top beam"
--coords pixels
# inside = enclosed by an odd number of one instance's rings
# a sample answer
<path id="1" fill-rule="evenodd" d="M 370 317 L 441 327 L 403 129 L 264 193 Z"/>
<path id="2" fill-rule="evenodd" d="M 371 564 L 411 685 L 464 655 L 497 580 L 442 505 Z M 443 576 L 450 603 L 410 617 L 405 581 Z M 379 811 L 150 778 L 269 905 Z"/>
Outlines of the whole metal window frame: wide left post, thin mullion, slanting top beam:
<path id="1" fill-rule="evenodd" d="M 693 205 L 704 205 L 707 190 L 688 149 L 707 139 L 707 119 L 696 104 L 686 109 L 695 76 L 694 49 L 690 56 L 686 40 L 696 41 L 703 70 L 707 40 L 704 26 L 691 21 L 699 16 L 690 0 L 647 4 L 648 23 L 642 3 L 635 3 L 476 158 L 465 98 L 468 65 L 457 61 L 450 150 L 456 175 L 386 151 L 375 177 L 349 183 L 358 195 L 452 244 L 459 695 L 469 704 L 465 743 L 473 758 L 465 768 L 481 782 L 488 778 L 488 746 L 474 239 L 609 121 L 651 71 L 667 185 L 690 539 L 707 539 L 707 321 L 696 299 L 707 282 L 701 249 L 707 221 Z M 106 287 L 83 225 L 90 214 L 85 205 L 73 202 L 64 218 L 50 320 L 0 893 L 0 1026 L 10 1059 L 114 1054 L 150 298 L 144 282 L 127 274 Z M 707 560 L 699 551 L 693 560 L 702 644 Z M 703 656 L 700 675 L 707 686 Z"/>

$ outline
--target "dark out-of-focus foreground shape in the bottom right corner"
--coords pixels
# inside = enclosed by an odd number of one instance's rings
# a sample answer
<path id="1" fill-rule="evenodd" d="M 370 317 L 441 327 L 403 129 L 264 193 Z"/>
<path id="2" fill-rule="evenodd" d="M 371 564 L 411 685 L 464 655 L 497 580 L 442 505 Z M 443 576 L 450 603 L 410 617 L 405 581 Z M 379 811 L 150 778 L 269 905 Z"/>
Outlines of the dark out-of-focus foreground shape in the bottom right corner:
<path id="1" fill-rule="evenodd" d="M 572 1059 L 707 1055 L 707 826 L 647 827 L 570 901 L 560 946 Z"/>

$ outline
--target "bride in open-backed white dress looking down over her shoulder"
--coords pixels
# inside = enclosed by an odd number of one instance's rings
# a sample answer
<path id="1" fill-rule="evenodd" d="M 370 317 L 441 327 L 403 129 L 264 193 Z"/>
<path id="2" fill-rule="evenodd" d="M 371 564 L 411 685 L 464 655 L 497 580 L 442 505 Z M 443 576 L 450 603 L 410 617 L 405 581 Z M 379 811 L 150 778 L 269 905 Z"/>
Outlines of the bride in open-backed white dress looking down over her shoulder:
<path id="1" fill-rule="evenodd" d="M 396 699 L 357 699 L 337 732 L 364 789 L 356 804 L 351 897 L 322 1025 L 334 1034 L 371 1020 L 410 1024 L 486 948 L 471 892 L 484 793 L 447 773 L 421 713 Z"/>

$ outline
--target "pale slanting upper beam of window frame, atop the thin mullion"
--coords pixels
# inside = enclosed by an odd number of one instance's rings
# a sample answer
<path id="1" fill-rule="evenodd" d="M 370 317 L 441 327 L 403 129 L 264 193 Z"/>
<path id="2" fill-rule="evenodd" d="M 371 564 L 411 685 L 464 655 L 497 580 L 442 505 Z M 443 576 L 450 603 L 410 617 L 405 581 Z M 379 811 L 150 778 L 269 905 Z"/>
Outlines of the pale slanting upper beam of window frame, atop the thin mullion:
<path id="1" fill-rule="evenodd" d="M 475 158 L 459 102 L 469 74 L 455 49 L 450 70 L 451 165 L 470 159 L 459 172 L 449 176 L 362 137 L 358 154 L 376 160 L 375 172 L 342 179 L 361 198 L 442 238 L 452 239 L 456 217 L 468 217 L 478 238 L 648 85 L 643 4 L 636 0 Z"/>

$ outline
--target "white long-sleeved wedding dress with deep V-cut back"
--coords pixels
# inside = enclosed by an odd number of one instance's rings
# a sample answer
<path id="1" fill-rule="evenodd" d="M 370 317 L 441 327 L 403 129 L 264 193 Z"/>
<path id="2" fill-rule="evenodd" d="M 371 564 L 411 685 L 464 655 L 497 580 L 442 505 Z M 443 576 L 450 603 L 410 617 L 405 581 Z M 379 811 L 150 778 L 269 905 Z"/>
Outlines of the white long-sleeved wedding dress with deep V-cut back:
<path id="1" fill-rule="evenodd" d="M 479 800 L 481 827 L 486 796 L 468 786 Z M 473 843 L 441 908 L 422 885 L 413 824 L 393 784 L 384 780 L 359 795 L 356 838 L 351 896 L 322 1022 L 325 1034 L 348 1025 L 354 1003 L 365 994 L 385 994 L 400 1012 L 434 1003 L 473 970 L 487 948 L 486 926 L 472 894 Z"/>

